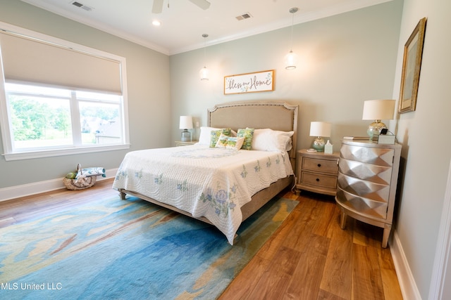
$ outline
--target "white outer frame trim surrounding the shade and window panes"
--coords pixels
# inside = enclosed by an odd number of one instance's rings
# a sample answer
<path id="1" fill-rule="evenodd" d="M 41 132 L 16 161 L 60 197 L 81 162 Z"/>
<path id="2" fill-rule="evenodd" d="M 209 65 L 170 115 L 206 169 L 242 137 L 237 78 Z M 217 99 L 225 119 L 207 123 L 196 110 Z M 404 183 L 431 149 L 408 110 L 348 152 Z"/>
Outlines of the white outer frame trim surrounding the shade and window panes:
<path id="1" fill-rule="evenodd" d="M 5 22 L 0 22 L 0 28 L 3 30 L 8 30 L 15 32 L 17 34 L 23 34 L 27 37 L 32 37 L 33 39 L 39 39 L 42 41 L 48 41 L 53 44 L 58 44 L 66 48 L 70 48 L 74 51 L 80 51 L 84 53 L 89 53 L 94 56 L 99 56 L 101 58 L 107 58 L 110 60 L 116 60 L 121 67 L 121 89 L 122 89 L 122 103 L 121 103 L 121 119 L 123 121 L 123 141 L 117 144 L 106 144 L 106 145 L 69 145 L 68 147 L 61 147 L 58 149 L 42 149 L 42 150 L 30 150 L 30 151 L 20 151 L 13 152 L 12 137 L 11 137 L 11 124 L 8 117 L 8 109 L 6 103 L 6 90 L 5 90 L 5 76 L 3 68 L 3 60 L 1 58 L 1 45 L 0 45 L 0 129 L 1 129 L 1 139 L 3 142 L 4 153 L 2 154 L 4 158 L 9 160 L 18 159 L 33 159 L 40 157 L 54 157 L 60 155 L 73 155 L 80 153 L 91 153 L 91 152 L 103 152 L 111 150 L 124 150 L 130 148 L 130 134 L 129 134 L 129 124 L 128 124 L 128 98 L 127 98 L 127 76 L 126 76 L 126 60 L 121 56 L 116 56 L 111 53 L 100 51 L 87 46 L 82 46 L 80 44 L 75 44 L 70 41 L 63 39 L 58 39 L 56 37 L 48 36 L 47 34 L 41 34 L 39 32 L 34 32 L 32 30 L 26 30 L 22 27 L 17 27 Z M 39 83 L 36 83 L 37 85 Z M 64 87 L 63 87 L 64 88 Z M 67 88 L 73 90 L 73 88 Z M 99 92 L 99 91 L 94 91 Z"/>

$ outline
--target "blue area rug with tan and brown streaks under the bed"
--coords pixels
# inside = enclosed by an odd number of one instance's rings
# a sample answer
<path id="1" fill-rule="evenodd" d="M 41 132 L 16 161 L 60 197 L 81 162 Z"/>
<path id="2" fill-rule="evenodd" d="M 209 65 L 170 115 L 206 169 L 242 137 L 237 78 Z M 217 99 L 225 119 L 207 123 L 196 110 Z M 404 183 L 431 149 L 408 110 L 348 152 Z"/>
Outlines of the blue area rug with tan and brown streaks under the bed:
<path id="1" fill-rule="evenodd" d="M 0 299 L 216 299 L 297 201 L 275 198 L 238 230 L 128 197 L 0 228 Z"/>

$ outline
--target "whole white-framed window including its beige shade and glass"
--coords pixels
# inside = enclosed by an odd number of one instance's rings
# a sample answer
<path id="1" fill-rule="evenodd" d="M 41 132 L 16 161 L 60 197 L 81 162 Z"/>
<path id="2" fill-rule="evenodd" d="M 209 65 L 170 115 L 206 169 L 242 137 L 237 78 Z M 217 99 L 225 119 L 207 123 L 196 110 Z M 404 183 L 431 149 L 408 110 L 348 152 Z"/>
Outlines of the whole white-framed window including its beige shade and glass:
<path id="1" fill-rule="evenodd" d="M 6 160 L 129 148 L 125 58 L 21 31 L 0 32 Z"/>

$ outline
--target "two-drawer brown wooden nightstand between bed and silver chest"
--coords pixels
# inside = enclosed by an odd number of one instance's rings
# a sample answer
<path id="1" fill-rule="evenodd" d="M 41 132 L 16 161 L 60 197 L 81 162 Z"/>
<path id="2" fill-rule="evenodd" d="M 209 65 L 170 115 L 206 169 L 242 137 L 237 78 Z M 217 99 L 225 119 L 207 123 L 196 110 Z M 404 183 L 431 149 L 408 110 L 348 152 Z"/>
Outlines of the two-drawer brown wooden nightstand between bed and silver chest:
<path id="1" fill-rule="evenodd" d="M 337 193 L 338 159 L 340 154 L 297 151 L 296 189 L 335 196 Z"/>

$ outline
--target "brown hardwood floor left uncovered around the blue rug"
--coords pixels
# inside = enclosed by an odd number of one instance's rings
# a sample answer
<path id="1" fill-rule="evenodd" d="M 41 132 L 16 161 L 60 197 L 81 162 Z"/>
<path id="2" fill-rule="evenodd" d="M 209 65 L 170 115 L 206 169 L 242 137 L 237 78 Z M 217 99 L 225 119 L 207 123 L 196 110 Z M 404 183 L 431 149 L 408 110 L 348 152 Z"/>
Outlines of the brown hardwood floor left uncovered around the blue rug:
<path id="1" fill-rule="evenodd" d="M 111 183 L 0 202 L 0 227 L 118 195 Z M 283 197 L 299 204 L 219 299 L 402 299 L 390 249 L 381 247 L 382 228 L 347 218 L 342 230 L 333 197 Z"/>

